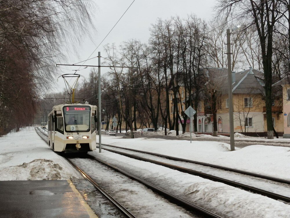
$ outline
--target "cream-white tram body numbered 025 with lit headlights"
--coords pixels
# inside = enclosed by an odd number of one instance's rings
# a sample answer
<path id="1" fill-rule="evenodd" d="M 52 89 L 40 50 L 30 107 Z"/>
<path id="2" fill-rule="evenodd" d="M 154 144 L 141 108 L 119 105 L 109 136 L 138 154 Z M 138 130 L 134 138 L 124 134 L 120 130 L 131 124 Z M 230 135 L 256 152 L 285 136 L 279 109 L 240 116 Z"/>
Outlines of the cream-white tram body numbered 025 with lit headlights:
<path id="1" fill-rule="evenodd" d="M 48 143 L 55 152 L 96 150 L 97 106 L 80 103 L 53 107 L 48 115 Z"/>

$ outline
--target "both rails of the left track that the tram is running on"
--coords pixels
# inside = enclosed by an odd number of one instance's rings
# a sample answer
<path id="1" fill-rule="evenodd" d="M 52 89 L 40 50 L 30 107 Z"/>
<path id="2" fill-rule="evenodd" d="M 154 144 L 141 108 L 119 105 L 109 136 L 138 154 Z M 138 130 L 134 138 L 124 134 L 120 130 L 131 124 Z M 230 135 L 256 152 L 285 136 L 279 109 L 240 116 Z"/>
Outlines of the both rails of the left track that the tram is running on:
<path id="1" fill-rule="evenodd" d="M 46 140 L 46 134 L 41 132 L 39 129 L 37 130 L 36 129 L 36 132 L 37 134 L 41 137 L 41 139 L 43 139 L 46 143 L 47 143 L 47 140 Z M 64 157 L 64 156 L 62 156 Z M 122 173 L 123 175 L 133 179 L 133 180 L 136 180 L 138 181 L 139 183 L 145 185 L 146 187 L 150 188 L 151 190 L 153 190 L 154 192 L 157 192 L 158 194 L 164 196 L 166 199 L 174 202 L 176 205 L 179 205 L 179 206 L 182 206 L 184 208 L 187 208 L 193 212 L 198 212 L 198 213 L 201 213 L 204 217 L 214 217 L 214 218 L 223 218 L 209 210 L 206 210 L 205 208 L 202 208 L 196 204 L 193 204 L 191 203 L 190 201 L 187 201 L 186 199 L 183 199 L 177 195 L 174 195 L 173 193 L 171 192 L 168 192 L 162 188 L 159 188 L 157 186 L 155 186 L 154 184 L 150 183 L 150 182 L 147 182 L 129 172 L 126 172 L 110 163 L 107 163 L 106 161 L 103 161 L 97 157 L 94 157 L 94 156 L 91 156 L 89 154 L 86 154 L 87 158 L 89 159 L 93 159 L 95 161 L 98 161 L 99 163 L 102 163 L 104 164 L 105 166 L 108 166 L 112 169 L 114 169 L 115 171 L 117 172 L 120 172 Z M 81 175 L 87 179 L 88 181 L 90 181 L 91 184 L 93 184 L 93 186 L 95 186 L 105 197 L 107 197 L 120 211 L 122 211 L 124 213 L 124 215 L 126 215 L 126 217 L 135 217 L 133 214 L 131 214 L 125 207 L 123 207 L 117 200 L 115 200 L 112 196 L 110 196 L 108 194 L 108 192 L 106 192 L 104 189 L 102 189 L 99 184 L 97 184 L 90 176 L 88 176 L 83 170 L 81 170 L 77 165 L 75 165 L 73 163 L 73 161 L 70 160 L 70 158 L 67 158 L 67 157 L 64 157 L 78 172 L 81 173 Z M 104 193 L 103 193 L 104 192 Z"/>

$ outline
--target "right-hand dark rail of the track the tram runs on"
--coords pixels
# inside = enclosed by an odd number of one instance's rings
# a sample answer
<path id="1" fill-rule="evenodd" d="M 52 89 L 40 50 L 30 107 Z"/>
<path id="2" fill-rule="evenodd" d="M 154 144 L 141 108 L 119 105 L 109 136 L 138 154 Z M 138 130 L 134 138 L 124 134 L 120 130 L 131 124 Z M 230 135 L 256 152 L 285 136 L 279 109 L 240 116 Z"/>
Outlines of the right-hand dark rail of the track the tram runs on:
<path id="1" fill-rule="evenodd" d="M 209 210 L 206 210 L 206 209 L 204 209 L 204 208 L 202 208 L 200 206 L 197 206 L 196 204 L 193 204 L 193 203 L 191 203 L 191 202 L 189 202 L 189 201 L 187 201 L 187 200 L 185 200 L 185 199 L 183 199 L 181 197 L 178 197 L 177 195 L 172 194 L 171 192 L 168 192 L 168 191 L 166 191 L 166 190 L 164 190 L 162 188 L 159 188 L 159 187 L 153 185 L 150 182 L 147 182 L 147 181 L 145 181 L 145 180 L 143 180 L 143 179 L 141 179 L 141 178 L 139 178 L 137 176 L 134 176 L 131 173 L 128 173 L 128 172 L 126 172 L 126 171 L 124 171 L 124 170 L 122 170 L 122 169 L 120 169 L 120 168 L 118 168 L 116 166 L 113 166 L 110 163 L 107 163 L 106 161 L 103 161 L 103 160 L 101 160 L 101 159 L 99 159 L 97 157 L 94 157 L 92 155 L 88 155 L 88 156 L 90 156 L 91 159 L 99 161 L 100 163 L 103 163 L 104 165 L 109 166 L 110 168 L 113 168 L 117 172 L 120 172 L 120 173 L 122 173 L 123 175 L 125 175 L 127 177 L 130 177 L 132 179 L 137 180 L 138 182 L 144 184 L 145 186 L 147 186 L 148 188 L 154 190 L 155 192 L 158 192 L 161 195 L 163 195 L 163 196 L 165 196 L 165 197 L 167 197 L 167 198 L 169 198 L 169 199 L 171 199 L 171 200 L 173 200 L 175 202 L 178 202 L 178 204 L 180 204 L 180 205 L 182 205 L 182 206 L 184 206 L 186 208 L 189 208 L 190 210 L 195 210 L 195 211 L 198 210 L 199 212 L 202 212 L 203 215 L 205 215 L 206 217 L 222 218 L 219 215 L 217 215 L 217 214 L 215 214 L 213 212 L 210 212 Z"/>

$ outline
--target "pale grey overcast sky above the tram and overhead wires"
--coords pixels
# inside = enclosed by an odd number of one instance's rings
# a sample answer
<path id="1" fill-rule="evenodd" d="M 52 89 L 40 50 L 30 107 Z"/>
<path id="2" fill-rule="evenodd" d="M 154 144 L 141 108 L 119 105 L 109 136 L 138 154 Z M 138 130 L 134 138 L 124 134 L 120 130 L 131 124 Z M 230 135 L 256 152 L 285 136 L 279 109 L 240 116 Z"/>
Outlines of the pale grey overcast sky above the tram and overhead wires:
<path id="1" fill-rule="evenodd" d="M 73 64 L 79 61 L 86 60 L 95 50 L 97 45 L 104 39 L 106 34 L 115 25 L 117 20 L 122 16 L 133 0 L 92 0 L 97 4 L 93 23 L 95 24 L 96 32 L 93 33 L 93 41 L 86 36 L 82 36 L 84 41 L 77 46 L 78 54 L 72 52 L 69 54 L 68 63 Z M 101 56 L 105 56 L 103 46 L 107 43 L 115 43 L 119 46 L 123 41 L 128 39 L 137 39 L 142 42 L 147 42 L 149 39 L 149 27 L 151 23 L 155 23 L 158 17 L 167 19 L 171 16 L 180 16 L 184 18 L 187 14 L 195 14 L 205 20 L 213 17 L 213 8 L 216 0 L 135 0 L 126 14 L 119 21 L 117 26 L 108 35 L 102 45 L 95 51 L 91 57 L 95 57 L 98 51 Z M 92 31 L 94 32 L 94 31 Z M 81 33 L 80 33 L 81 34 Z M 102 59 L 101 59 L 102 61 Z M 64 62 L 63 62 L 64 63 Z M 97 58 L 89 60 L 86 65 L 97 65 Z M 66 69 L 77 70 L 77 67 L 64 67 Z M 81 68 L 82 69 L 82 68 Z M 63 73 L 74 73 L 74 71 L 63 70 Z M 102 68 L 101 72 L 106 73 L 106 68 Z M 77 73 L 88 78 L 90 68 L 78 71 Z M 59 75 L 60 76 L 60 75 Z M 64 86 L 64 81 L 59 79 L 57 90 L 61 91 Z"/>

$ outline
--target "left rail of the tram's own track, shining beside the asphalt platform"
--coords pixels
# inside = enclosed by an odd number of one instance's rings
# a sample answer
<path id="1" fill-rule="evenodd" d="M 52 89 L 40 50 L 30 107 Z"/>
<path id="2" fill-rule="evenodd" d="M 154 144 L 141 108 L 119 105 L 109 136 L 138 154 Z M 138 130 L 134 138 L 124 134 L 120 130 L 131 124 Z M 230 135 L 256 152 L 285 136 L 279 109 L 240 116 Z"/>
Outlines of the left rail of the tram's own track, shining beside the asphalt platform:
<path id="1" fill-rule="evenodd" d="M 44 139 L 44 137 L 42 137 L 40 135 L 40 133 L 42 135 L 45 136 L 45 134 L 43 132 L 41 132 L 39 129 L 37 130 L 37 127 L 35 127 L 35 130 L 37 132 L 37 134 L 39 135 L 39 137 L 41 137 L 42 140 L 44 140 L 46 143 L 48 143 L 46 141 L 46 139 Z M 64 157 L 79 173 L 81 173 L 81 175 L 87 179 L 91 184 L 93 184 L 93 186 L 95 186 L 95 188 L 97 188 L 99 190 L 99 192 L 101 192 L 106 198 L 108 198 L 114 205 L 115 207 L 117 207 L 121 212 L 124 213 L 124 215 L 126 215 L 126 217 L 129 218 L 136 218 L 130 211 L 128 211 L 124 206 L 122 206 L 116 199 L 114 199 L 108 192 L 106 192 L 104 189 L 102 189 L 92 178 L 90 178 L 83 170 L 81 170 L 79 167 L 77 167 L 70 159 Z"/>

